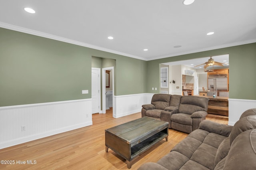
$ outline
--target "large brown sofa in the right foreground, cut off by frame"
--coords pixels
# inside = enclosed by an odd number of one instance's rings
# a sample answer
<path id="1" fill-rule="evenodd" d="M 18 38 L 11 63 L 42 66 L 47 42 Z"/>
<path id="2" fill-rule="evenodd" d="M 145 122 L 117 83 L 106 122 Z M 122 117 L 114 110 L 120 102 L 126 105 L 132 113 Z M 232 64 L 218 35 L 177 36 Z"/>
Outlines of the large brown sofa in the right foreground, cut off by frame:
<path id="1" fill-rule="evenodd" d="M 256 109 L 228 126 L 204 120 L 158 162 L 138 170 L 255 170 Z"/>

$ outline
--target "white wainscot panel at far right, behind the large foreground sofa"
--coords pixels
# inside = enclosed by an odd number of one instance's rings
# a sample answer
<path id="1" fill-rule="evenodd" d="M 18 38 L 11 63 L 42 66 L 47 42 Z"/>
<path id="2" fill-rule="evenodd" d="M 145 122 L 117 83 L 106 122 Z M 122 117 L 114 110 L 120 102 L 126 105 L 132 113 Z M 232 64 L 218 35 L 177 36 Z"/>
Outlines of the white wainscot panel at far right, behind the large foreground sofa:
<path id="1" fill-rule="evenodd" d="M 228 99 L 228 125 L 234 126 L 244 111 L 256 108 L 256 100 Z"/>

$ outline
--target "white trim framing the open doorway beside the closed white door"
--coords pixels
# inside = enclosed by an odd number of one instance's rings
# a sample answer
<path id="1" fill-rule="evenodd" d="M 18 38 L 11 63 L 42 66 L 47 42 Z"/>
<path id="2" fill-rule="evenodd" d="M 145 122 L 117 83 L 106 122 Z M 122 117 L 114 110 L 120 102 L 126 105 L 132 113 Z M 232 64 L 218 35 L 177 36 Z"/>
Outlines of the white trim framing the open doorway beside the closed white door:
<path id="1" fill-rule="evenodd" d="M 112 91 L 113 91 L 113 96 L 112 100 L 114 99 L 114 67 L 106 67 L 102 68 L 102 113 L 106 113 L 106 70 L 112 69 Z M 110 73 L 111 73 L 110 72 Z M 113 106 L 112 108 L 114 109 L 114 102 L 112 101 Z M 114 113 L 114 110 L 113 110 Z"/>

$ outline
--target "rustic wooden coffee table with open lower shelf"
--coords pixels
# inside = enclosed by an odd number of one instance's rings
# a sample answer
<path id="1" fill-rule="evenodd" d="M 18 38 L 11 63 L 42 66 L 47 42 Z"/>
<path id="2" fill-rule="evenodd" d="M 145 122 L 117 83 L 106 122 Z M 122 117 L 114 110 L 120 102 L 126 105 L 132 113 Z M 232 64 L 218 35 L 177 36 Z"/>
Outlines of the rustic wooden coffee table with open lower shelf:
<path id="1" fill-rule="evenodd" d="M 110 148 L 125 158 L 130 169 L 131 160 L 164 138 L 168 141 L 168 122 L 142 117 L 106 129 L 106 152 Z"/>

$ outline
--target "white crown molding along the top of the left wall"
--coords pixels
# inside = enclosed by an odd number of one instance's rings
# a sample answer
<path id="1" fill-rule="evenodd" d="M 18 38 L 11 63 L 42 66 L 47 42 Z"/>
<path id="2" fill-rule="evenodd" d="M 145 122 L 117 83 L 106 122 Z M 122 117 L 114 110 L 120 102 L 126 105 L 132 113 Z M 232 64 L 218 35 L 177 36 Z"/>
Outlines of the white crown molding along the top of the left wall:
<path id="1" fill-rule="evenodd" d="M 34 36 L 40 36 L 40 37 L 49 38 L 49 39 L 52 39 L 52 40 L 58 40 L 58 41 L 61 41 L 61 42 L 66 42 L 66 43 L 72 43 L 72 44 L 75 44 L 75 45 L 80 45 L 80 46 L 83 46 L 83 47 L 88 47 L 88 48 L 92 48 L 92 49 L 98 49 L 100 51 L 105 51 L 105 52 L 109 52 L 109 53 L 123 55 L 125 57 L 132 57 L 132 58 L 135 58 L 135 59 L 146 60 L 145 58 L 138 57 L 136 55 L 127 54 L 127 53 L 123 53 L 123 52 L 120 52 L 120 51 L 115 51 L 115 50 L 112 50 L 112 49 L 103 48 L 103 47 L 99 47 L 99 46 L 96 46 L 96 45 L 91 45 L 91 44 L 88 44 L 88 43 L 78 42 L 78 41 L 71 40 L 71 39 L 68 39 L 68 38 L 54 36 L 52 34 L 47 34 L 47 33 L 44 33 L 44 32 L 30 30 L 28 28 L 23 28 L 23 27 L 20 27 L 20 26 L 14 26 L 12 24 L 6 24 L 4 22 L 0 22 L 0 27 L 6 28 L 6 29 L 9 29 L 9 30 L 18 31 L 18 32 L 23 32 L 23 33 L 26 33 L 26 34 L 31 34 L 31 35 L 34 35 Z"/>

